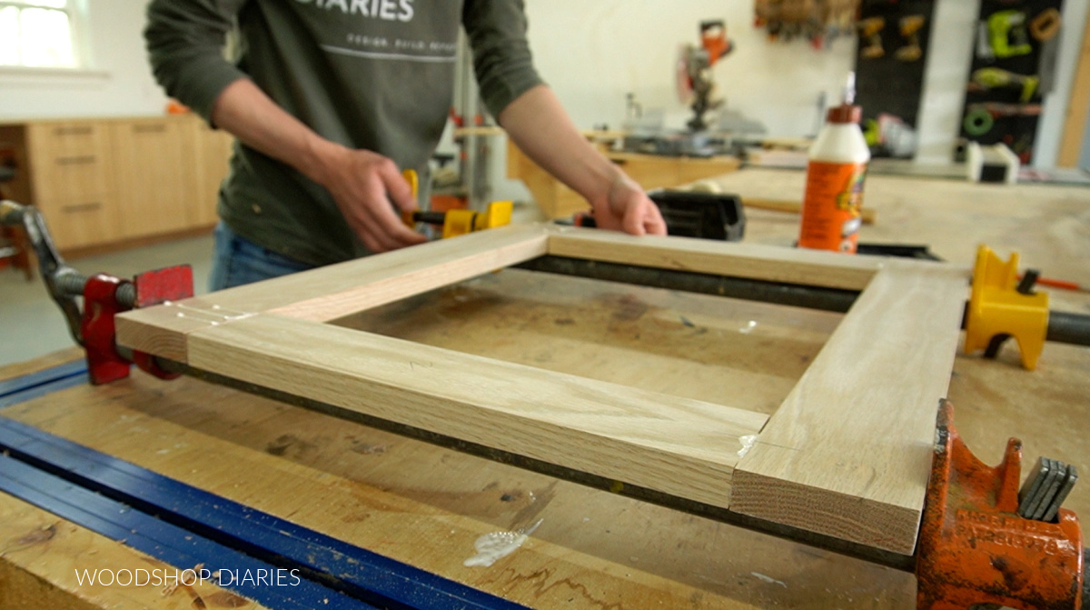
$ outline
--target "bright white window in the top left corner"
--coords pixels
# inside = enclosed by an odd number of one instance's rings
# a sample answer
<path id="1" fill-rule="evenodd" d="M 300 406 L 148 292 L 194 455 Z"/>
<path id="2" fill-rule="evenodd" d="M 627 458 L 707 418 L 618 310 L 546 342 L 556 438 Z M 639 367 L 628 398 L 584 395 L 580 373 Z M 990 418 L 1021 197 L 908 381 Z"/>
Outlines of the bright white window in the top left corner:
<path id="1" fill-rule="evenodd" d="M 0 0 L 0 65 L 77 68 L 74 0 Z"/>

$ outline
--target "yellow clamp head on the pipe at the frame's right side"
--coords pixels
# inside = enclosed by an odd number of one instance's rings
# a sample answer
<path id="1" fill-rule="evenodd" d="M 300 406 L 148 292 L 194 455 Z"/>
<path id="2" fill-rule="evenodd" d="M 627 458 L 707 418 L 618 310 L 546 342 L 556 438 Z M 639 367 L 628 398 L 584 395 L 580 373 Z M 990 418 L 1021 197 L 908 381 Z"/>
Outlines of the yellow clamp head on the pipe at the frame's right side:
<path id="1" fill-rule="evenodd" d="M 1032 371 L 1049 332 L 1049 295 L 1018 291 L 1018 253 L 1003 262 L 986 246 L 977 250 L 972 296 L 965 322 L 965 352 L 986 349 L 992 337 L 1018 342 L 1022 367 Z"/>

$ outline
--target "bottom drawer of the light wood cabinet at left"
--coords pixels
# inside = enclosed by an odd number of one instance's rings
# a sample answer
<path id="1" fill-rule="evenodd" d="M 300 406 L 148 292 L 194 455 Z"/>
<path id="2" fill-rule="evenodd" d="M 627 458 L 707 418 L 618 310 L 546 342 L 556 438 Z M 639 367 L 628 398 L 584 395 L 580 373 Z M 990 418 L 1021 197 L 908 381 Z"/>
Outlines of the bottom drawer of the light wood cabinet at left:
<path id="1" fill-rule="evenodd" d="M 39 206 L 59 249 L 97 246 L 120 237 L 112 198 L 49 200 L 40 202 Z"/>

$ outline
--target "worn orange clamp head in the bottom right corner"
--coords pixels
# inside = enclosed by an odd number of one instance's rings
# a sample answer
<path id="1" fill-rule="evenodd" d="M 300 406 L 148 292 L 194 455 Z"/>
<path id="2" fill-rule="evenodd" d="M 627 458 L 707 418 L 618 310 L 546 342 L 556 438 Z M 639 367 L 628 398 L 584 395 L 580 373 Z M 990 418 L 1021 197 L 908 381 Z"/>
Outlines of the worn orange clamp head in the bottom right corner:
<path id="1" fill-rule="evenodd" d="M 966 446 L 943 402 L 920 526 L 919 610 L 995 603 L 1021 610 L 1081 610 L 1082 531 L 1075 513 L 1056 523 L 1018 514 L 1021 441 L 991 468 Z"/>

